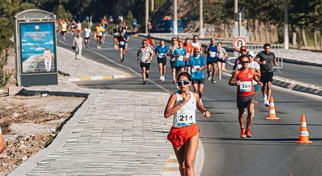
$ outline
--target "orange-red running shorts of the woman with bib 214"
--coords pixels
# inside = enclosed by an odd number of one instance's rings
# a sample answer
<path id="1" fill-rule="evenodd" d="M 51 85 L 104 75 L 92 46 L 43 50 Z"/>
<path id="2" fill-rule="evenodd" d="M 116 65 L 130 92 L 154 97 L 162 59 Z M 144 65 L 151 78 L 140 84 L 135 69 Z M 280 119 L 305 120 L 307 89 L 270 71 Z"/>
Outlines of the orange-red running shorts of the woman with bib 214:
<path id="1" fill-rule="evenodd" d="M 186 127 L 171 127 L 167 139 L 176 147 L 184 145 L 192 136 L 198 135 L 199 128 L 197 124 Z"/>

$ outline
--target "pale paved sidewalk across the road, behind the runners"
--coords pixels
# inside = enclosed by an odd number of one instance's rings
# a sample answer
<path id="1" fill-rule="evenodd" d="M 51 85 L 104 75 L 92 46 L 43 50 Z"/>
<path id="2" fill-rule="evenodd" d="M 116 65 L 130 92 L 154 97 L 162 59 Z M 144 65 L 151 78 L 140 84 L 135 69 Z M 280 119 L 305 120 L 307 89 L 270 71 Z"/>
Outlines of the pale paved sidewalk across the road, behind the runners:
<path id="1" fill-rule="evenodd" d="M 156 39 L 165 39 L 167 41 L 171 41 L 172 37 L 176 37 L 172 34 L 168 33 L 151 33 L 152 37 Z M 146 37 L 147 34 L 141 33 L 139 36 Z M 193 34 L 181 34 L 182 39 L 189 37 L 192 40 Z M 199 40 L 202 45 L 206 46 L 210 43 L 210 39 L 200 39 Z M 222 41 L 220 39 L 216 39 L 217 42 Z M 223 46 L 225 49 L 229 49 L 234 51 L 232 41 L 222 41 Z M 249 45 L 251 50 L 254 52 L 263 51 L 262 48 L 256 49 L 258 47 L 262 47 L 262 45 Z M 275 47 L 272 47 L 274 50 Z M 275 52 L 276 57 L 282 57 L 284 62 L 289 63 L 297 63 L 297 64 L 307 64 L 307 65 L 314 65 L 314 66 L 321 66 L 322 67 L 322 53 L 321 52 L 313 52 L 313 51 L 306 51 L 306 50 L 299 50 L 299 49 L 281 49 L 280 51 Z"/>

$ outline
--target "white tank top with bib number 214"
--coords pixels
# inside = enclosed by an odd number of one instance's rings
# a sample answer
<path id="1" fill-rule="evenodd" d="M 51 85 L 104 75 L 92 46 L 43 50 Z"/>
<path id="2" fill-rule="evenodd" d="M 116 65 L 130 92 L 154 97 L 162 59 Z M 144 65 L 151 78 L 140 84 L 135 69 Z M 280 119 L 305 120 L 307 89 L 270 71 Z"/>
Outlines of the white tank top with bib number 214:
<path id="1" fill-rule="evenodd" d="M 173 115 L 173 127 L 186 127 L 195 122 L 195 110 L 197 108 L 197 101 L 192 92 L 190 92 L 190 100 L 184 104 L 176 113 Z M 177 96 L 177 101 L 174 106 L 179 105 L 182 102 L 182 98 L 179 94 L 179 91 L 175 93 Z"/>

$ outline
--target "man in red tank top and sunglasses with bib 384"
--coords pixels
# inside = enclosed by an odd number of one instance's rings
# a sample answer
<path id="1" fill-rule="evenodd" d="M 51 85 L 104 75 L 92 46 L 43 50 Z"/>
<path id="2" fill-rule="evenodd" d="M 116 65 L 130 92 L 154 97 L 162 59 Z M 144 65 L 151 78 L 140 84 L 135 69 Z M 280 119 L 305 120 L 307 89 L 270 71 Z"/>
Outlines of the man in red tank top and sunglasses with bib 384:
<path id="1" fill-rule="evenodd" d="M 241 138 L 252 137 L 250 126 L 253 120 L 255 106 L 255 91 L 252 81 L 255 80 L 260 86 L 263 83 L 258 79 L 255 70 L 248 67 L 249 59 L 246 55 L 240 56 L 242 68 L 237 69 L 229 80 L 229 85 L 237 85 L 237 108 L 238 120 L 241 127 Z M 236 82 L 235 82 L 236 81 Z M 247 126 L 244 127 L 244 112 L 248 110 Z"/>

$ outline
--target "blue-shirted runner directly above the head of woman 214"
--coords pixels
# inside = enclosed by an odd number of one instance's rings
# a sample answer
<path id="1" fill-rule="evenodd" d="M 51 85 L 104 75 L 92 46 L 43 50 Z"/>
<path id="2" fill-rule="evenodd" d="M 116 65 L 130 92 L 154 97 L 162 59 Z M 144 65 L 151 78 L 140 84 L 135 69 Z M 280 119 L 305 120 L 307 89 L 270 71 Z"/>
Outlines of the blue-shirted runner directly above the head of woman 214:
<path id="1" fill-rule="evenodd" d="M 179 41 L 179 48 L 176 48 L 173 51 L 173 57 L 175 57 L 175 77 L 178 77 L 178 74 L 184 71 L 184 57 L 187 54 L 187 51 L 183 48 L 183 41 Z"/>

